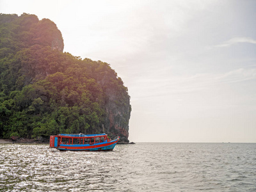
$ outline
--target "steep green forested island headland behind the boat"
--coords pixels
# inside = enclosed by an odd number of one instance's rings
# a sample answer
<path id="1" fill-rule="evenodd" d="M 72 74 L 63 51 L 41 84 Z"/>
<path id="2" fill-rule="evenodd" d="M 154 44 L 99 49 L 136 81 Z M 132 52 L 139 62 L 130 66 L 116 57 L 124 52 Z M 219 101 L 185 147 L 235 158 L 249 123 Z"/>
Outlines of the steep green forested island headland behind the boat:
<path id="1" fill-rule="evenodd" d="M 130 97 L 108 63 L 63 52 L 56 24 L 36 15 L 1 13 L 0 37 L 0 138 L 49 140 L 104 125 L 129 143 Z"/>

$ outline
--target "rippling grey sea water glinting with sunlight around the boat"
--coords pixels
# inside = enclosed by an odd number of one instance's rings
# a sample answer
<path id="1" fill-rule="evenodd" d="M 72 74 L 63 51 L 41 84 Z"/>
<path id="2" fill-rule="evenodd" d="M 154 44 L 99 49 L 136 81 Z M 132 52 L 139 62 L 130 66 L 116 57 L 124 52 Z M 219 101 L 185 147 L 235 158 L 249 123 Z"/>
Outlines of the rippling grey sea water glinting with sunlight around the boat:
<path id="1" fill-rule="evenodd" d="M 256 191 L 256 143 L 1 144 L 0 191 Z"/>

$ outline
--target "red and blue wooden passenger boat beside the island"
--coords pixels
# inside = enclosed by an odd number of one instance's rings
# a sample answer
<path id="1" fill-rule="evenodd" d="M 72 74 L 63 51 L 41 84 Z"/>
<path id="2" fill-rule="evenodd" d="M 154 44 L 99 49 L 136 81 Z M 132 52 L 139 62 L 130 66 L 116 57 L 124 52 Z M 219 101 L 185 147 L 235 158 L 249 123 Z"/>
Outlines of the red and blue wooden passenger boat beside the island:
<path id="1" fill-rule="evenodd" d="M 58 150 L 113 150 L 120 136 L 109 140 L 108 135 L 102 134 L 58 134 L 50 136 L 50 147 Z"/>

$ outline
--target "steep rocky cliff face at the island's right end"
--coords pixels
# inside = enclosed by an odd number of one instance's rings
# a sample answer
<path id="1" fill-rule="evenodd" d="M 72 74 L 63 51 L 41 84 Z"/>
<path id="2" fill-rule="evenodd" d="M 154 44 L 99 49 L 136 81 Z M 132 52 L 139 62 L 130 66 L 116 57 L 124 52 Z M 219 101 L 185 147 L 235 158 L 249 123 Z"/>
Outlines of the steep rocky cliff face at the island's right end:
<path id="1" fill-rule="evenodd" d="M 97 63 L 99 67 L 95 70 L 95 77 L 104 93 L 105 132 L 111 138 L 120 136 L 120 141 L 129 142 L 131 105 L 128 90 L 108 63 L 102 61 Z"/>

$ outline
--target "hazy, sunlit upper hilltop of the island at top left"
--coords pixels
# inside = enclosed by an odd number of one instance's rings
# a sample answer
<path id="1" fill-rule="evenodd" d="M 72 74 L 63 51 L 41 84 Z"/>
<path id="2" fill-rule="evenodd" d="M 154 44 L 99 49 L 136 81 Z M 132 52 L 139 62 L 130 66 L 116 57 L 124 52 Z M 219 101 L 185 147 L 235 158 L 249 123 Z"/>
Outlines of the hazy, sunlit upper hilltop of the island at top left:
<path id="1" fill-rule="evenodd" d="M 49 19 L 38 20 L 36 15 L 23 13 L 8 15 L 0 13 L 0 48 L 17 52 L 33 45 L 50 46 L 63 52 L 64 43 L 60 30 Z M 4 55 L 5 56 L 5 55 Z"/>

